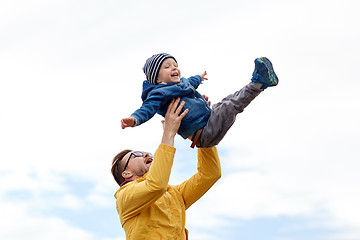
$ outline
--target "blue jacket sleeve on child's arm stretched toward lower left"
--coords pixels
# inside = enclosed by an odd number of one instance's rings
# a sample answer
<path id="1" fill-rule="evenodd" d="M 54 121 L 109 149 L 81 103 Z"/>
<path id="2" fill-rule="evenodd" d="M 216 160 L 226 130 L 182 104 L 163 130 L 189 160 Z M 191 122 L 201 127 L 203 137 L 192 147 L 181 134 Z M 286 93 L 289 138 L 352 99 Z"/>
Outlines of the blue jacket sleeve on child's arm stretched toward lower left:
<path id="1" fill-rule="evenodd" d="M 135 126 L 139 126 L 140 124 L 150 120 L 161 108 L 164 103 L 164 97 L 164 94 L 157 91 L 145 99 L 141 107 L 131 114 L 131 116 L 136 119 Z"/>

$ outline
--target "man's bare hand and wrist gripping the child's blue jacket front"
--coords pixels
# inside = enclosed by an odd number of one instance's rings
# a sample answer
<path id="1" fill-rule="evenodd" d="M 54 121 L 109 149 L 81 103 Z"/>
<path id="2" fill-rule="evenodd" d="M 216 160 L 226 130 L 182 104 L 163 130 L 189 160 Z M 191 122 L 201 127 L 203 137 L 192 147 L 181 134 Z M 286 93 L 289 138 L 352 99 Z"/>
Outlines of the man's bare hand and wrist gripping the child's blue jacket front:
<path id="1" fill-rule="evenodd" d="M 185 109 L 184 112 L 180 114 L 185 102 L 182 101 L 180 105 L 179 102 L 180 98 L 171 100 L 165 114 L 165 121 L 163 121 L 164 133 L 161 143 L 169 146 L 174 146 L 174 138 L 179 130 L 181 120 L 189 112 L 189 109 Z"/>

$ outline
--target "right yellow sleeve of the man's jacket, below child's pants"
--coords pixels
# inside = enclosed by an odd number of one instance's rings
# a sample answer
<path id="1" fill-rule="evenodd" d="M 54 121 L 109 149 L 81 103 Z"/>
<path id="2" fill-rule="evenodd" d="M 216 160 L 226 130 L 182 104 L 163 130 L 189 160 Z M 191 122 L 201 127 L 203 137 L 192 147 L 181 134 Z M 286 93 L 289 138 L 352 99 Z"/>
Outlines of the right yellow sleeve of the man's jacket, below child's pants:
<path id="1" fill-rule="evenodd" d="M 216 147 L 198 148 L 198 172 L 176 186 L 188 209 L 201 198 L 221 177 L 221 166 Z"/>

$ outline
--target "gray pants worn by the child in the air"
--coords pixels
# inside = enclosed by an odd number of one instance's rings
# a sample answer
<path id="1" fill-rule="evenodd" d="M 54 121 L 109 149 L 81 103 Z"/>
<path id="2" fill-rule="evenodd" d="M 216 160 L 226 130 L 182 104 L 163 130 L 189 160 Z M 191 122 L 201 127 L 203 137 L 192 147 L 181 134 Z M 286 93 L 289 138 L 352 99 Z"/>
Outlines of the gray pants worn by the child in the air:
<path id="1" fill-rule="evenodd" d="M 209 148 L 217 145 L 234 124 L 236 115 L 244 111 L 262 91 L 256 83 L 250 82 L 213 105 L 209 120 L 200 135 L 200 147 Z"/>

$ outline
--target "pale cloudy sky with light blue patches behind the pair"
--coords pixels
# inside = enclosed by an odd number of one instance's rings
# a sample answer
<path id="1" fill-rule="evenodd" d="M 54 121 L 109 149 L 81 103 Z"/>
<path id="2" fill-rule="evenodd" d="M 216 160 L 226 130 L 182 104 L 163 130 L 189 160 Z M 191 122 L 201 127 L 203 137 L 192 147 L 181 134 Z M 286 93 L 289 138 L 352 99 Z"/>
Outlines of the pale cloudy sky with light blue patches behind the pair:
<path id="1" fill-rule="evenodd" d="M 187 211 L 190 239 L 360 239 L 360 3 L 1 1 L 0 239 L 124 240 L 112 158 L 155 152 L 161 117 L 136 128 L 145 60 L 208 73 L 213 103 L 268 57 L 279 85 L 218 145 L 222 178 Z M 196 172 L 177 136 L 170 184 Z"/>

